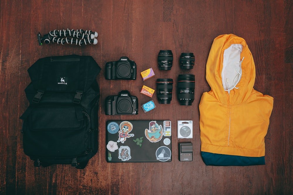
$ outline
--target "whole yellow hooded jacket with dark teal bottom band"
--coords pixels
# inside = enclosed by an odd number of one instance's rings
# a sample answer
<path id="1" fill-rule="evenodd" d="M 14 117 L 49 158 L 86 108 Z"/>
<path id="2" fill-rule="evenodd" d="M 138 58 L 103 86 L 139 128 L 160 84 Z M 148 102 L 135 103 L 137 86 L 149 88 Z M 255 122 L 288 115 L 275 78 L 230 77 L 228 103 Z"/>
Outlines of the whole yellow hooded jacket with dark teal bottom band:
<path id="1" fill-rule="evenodd" d="M 199 105 L 203 161 L 215 166 L 265 164 L 273 98 L 253 89 L 255 64 L 245 40 L 234 34 L 215 38 L 206 68 L 211 90 L 202 94 Z"/>

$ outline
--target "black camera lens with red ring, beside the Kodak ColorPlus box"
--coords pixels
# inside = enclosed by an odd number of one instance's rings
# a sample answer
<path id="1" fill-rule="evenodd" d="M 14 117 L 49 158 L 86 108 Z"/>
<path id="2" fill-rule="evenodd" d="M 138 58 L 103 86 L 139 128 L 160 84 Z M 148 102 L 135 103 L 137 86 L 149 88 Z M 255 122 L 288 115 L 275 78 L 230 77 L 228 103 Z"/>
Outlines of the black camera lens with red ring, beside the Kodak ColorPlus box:
<path id="1" fill-rule="evenodd" d="M 157 99 L 159 103 L 167 104 L 172 100 L 173 79 L 157 79 Z"/>

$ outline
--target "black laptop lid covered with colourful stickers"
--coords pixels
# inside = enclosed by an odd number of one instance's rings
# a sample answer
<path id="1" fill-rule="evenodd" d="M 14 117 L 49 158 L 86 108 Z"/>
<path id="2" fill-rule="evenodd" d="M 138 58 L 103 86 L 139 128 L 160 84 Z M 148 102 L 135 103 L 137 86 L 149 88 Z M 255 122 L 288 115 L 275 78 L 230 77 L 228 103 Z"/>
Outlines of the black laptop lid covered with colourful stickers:
<path id="1" fill-rule="evenodd" d="M 111 163 L 171 162 L 170 120 L 110 120 L 106 160 Z"/>

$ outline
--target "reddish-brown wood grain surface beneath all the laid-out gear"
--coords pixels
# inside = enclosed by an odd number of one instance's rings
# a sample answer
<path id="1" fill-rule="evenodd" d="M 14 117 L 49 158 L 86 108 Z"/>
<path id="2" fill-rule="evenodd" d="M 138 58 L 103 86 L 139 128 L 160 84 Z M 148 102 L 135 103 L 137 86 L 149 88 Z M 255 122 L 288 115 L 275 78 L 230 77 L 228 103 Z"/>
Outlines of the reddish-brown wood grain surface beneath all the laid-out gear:
<path id="1" fill-rule="evenodd" d="M 1 0 L 0 1 L 0 194 L 293 194 L 293 1 L 179 0 Z M 84 29 L 99 33 L 97 45 L 38 45 L 37 34 L 50 30 Z M 236 34 L 246 40 L 255 61 L 255 89 L 274 98 L 265 137 L 266 165 L 206 166 L 200 156 L 198 105 L 209 91 L 205 68 L 213 39 Z M 159 70 L 161 49 L 173 51 L 173 67 Z M 195 66 L 181 70 L 179 57 L 193 52 Z M 28 107 L 24 89 L 27 69 L 39 58 L 89 55 L 102 68 L 99 150 L 83 170 L 70 165 L 35 168 L 23 153 L 22 121 Z M 105 63 L 128 56 L 137 63 L 137 80 L 105 80 Z M 143 81 L 140 72 L 152 67 L 155 77 Z M 156 89 L 157 78 L 195 75 L 195 100 L 171 104 L 149 113 L 105 115 L 105 98 L 129 90 L 139 106 L 150 100 L 142 85 Z M 173 92 L 177 83 L 174 82 Z M 172 121 L 172 162 L 107 163 L 107 120 Z M 177 138 L 177 120 L 193 120 L 193 139 Z M 178 142 L 193 143 L 193 161 L 178 161 Z"/>

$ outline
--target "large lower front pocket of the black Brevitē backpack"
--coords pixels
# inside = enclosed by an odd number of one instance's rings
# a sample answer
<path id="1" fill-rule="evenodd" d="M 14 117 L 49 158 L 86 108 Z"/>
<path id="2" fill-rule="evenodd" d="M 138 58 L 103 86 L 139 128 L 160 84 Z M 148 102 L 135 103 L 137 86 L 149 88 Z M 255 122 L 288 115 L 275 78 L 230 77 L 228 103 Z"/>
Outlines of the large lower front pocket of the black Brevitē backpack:
<path id="1" fill-rule="evenodd" d="M 78 156 L 88 147 L 85 139 L 89 129 L 88 115 L 81 107 L 35 107 L 23 122 L 23 149 L 35 157 Z"/>

